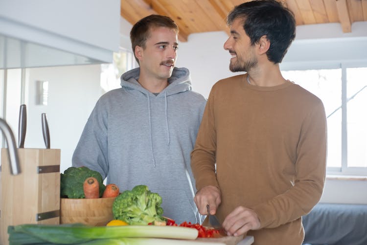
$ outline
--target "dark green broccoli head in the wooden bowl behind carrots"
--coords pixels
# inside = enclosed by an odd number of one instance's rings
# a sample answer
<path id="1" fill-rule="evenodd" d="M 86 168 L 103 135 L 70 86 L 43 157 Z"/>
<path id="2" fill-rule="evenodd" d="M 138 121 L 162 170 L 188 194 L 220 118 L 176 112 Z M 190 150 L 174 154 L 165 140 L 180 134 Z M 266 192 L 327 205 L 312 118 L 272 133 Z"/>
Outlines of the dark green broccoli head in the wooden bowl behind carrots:
<path id="1" fill-rule="evenodd" d="M 61 174 L 61 197 L 67 198 L 85 198 L 83 183 L 89 177 L 94 177 L 99 183 L 99 197 L 102 197 L 106 186 L 103 184 L 103 179 L 100 173 L 93 171 L 87 167 L 69 167 Z"/>

